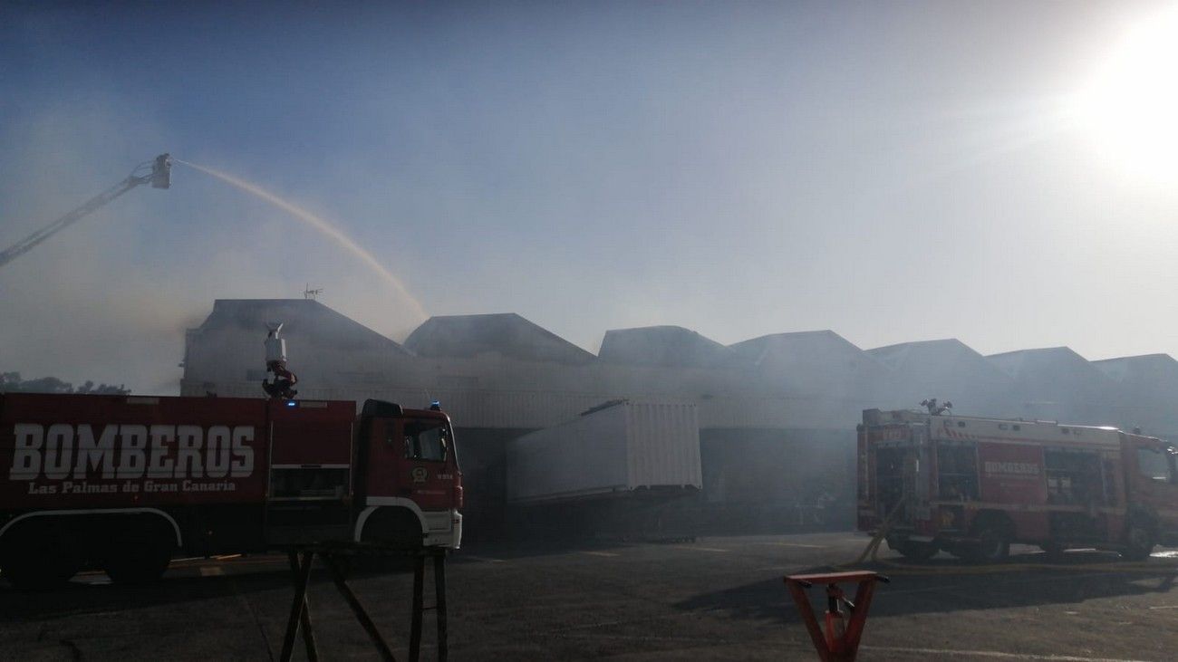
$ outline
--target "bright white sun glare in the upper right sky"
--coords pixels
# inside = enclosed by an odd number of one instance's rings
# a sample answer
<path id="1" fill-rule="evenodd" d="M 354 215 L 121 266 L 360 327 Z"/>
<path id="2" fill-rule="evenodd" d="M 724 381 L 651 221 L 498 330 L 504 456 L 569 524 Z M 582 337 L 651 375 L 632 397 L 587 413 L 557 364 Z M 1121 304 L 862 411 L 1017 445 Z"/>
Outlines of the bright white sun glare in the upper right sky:
<path id="1" fill-rule="evenodd" d="M 1077 111 L 1104 158 L 1133 174 L 1178 179 L 1178 8 L 1125 34 Z"/>

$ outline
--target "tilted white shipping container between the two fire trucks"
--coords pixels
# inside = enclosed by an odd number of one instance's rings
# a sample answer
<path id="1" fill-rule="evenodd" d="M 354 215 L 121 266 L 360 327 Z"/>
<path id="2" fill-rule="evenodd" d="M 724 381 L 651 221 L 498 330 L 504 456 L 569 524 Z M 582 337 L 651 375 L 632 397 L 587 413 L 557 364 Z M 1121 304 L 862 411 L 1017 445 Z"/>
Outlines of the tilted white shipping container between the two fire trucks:
<path id="1" fill-rule="evenodd" d="M 607 403 L 512 439 L 511 503 L 598 497 L 640 489 L 700 489 L 700 423 L 694 404 Z"/>

